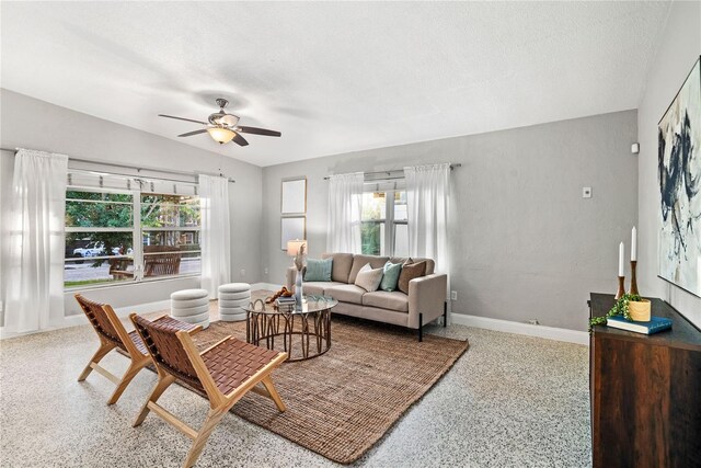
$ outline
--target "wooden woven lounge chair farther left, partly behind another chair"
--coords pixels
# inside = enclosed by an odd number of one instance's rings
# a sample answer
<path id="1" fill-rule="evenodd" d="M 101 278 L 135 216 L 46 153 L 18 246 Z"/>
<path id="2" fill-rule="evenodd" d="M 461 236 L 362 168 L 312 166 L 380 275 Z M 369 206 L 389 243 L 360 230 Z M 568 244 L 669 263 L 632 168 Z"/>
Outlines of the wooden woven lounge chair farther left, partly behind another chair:
<path id="1" fill-rule="evenodd" d="M 80 377 L 78 377 L 78 381 L 83 381 L 93 369 L 96 370 L 99 374 L 117 385 L 117 388 L 107 401 L 107 404 L 116 403 L 131 379 L 136 377 L 143 366 L 151 362 L 151 357 L 148 354 L 143 341 L 141 341 L 141 336 L 136 332 L 136 330 L 127 333 L 112 306 L 108 304 L 92 301 L 80 294 L 76 295 L 76 300 L 78 300 L 81 309 L 83 309 L 83 312 L 88 316 L 88 320 L 90 320 L 90 323 L 100 339 L 100 347 L 92 356 L 82 374 L 80 374 Z M 182 329 L 189 330 L 194 328 L 194 326 L 191 326 L 189 323 L 177 323 Z M 102 358 L 115 347 L 126 352 L 131 359 L 129 368 L 122 378 L 99 365 L 100 361 L 102 361 Z"/>

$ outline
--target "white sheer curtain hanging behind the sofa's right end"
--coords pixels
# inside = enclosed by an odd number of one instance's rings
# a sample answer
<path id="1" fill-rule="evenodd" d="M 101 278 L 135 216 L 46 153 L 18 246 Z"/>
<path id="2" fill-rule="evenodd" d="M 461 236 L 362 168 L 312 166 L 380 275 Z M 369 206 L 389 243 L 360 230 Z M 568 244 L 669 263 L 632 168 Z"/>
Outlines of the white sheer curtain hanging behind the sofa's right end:
<path id="1" fill-rule="evenodd" d="M 448 274 L 448 290 L 450 290 L 448 251 L 450 164 L 404 168 L 404 176 L 406 178 L 409 254 L 434 259 L 436 273 Z"/>

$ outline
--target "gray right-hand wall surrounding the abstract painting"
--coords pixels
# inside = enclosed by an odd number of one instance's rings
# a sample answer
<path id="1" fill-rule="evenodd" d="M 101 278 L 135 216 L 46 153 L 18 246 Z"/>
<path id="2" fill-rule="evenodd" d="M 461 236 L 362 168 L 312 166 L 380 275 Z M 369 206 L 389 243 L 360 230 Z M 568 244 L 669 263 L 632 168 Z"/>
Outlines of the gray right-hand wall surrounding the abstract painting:
<path id="1" fill-rule="evenodd" d="M 666 299 L 701 327 L 701 298 L 657 277 L 659 191 L 657 185 L 657 123 L 701 54 L 701 3 L 674 2 L 650 66 L 637 113 L 641 293 Z"/>

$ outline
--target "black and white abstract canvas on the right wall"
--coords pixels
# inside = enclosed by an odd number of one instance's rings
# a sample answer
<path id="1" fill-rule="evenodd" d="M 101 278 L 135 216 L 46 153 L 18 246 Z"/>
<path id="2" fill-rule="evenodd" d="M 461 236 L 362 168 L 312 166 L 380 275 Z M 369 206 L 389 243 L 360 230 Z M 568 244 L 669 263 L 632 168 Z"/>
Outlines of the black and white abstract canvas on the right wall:
<path id="1" fill-rule="evenodd" d="M 701 58 L 657 130 L 659 276 L 701 296 Z"/>

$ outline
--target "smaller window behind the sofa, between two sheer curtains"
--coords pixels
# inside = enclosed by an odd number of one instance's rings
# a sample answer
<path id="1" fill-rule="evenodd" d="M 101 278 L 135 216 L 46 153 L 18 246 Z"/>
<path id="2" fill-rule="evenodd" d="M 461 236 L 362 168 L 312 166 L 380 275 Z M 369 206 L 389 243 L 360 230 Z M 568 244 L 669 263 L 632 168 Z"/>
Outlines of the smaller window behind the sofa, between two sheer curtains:
<path id="1" fill-rule="evenodd" d="M 406 192 L 375 191 L 363 194 L 363 253 L 409 255 Z"/>

